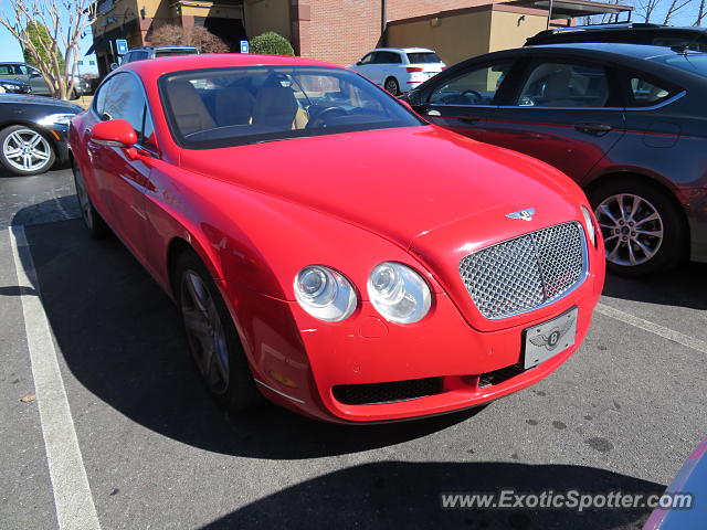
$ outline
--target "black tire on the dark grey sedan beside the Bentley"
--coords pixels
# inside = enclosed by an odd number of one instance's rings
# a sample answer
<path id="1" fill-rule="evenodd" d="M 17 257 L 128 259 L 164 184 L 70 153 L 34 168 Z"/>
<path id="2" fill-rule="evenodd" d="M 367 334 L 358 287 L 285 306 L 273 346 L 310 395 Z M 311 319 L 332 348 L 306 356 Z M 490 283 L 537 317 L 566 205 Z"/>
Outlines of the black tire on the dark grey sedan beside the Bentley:
<path id="1" fill-rule="evenodd" d="M 629 197 L 621 199 L 621 195 Z M 637 202 L 636 206 L 636 201 L 630 195 L 637 197 L 644 202 Z M 624 178 L 600 184 L 590 191 L 589 200 L 604 236 L 606 268 L 612 273 L 630 277 L 650 276 L 671 271 L 686 261 L 689 229 L 677 200 L 664 188 L 645 179 Z M 611 208 L 612 204 L 618 205 L 620 202 L 631 204 L 631 210 L 626 209 L 627 219 L 635 224 L 627 226 L 629 223 L 616 215 L 621 210 Z M 603 205 L 601 210 L 600 205 Z M 606 208 L 621 224 L 613 223 L 606 213 Z M 657 213 L 657 218 L 647 220 L 653 218 L 651 210 Z M 643 221 L 637 223 L 635 220 Z M 633 232 L 637 226 L 642 231 Z M 643 235 L 647 233 L 661 233 L 661 239 L 657 235 Z M 621 246 L 616 250 L 615 244 Z M 653 251 L 653 254 L 648 257 L 650 253 L 644 252 L 643 248 Z M 614 250 L 612 258 L 611 254 Z M 636 264 L 630 263 L 632 254 L 629 251 L 633 254 Z M 627 256 L 627 259 L 621 258 L 622 255 Z"/>

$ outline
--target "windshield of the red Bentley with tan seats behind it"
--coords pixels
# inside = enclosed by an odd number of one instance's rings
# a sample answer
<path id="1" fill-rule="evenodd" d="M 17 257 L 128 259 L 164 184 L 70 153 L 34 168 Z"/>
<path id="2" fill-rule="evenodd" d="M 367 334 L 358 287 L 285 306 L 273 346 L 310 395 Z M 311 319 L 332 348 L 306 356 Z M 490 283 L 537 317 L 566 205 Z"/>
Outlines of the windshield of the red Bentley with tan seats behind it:
<path id="1" fill-rule="evenodd" d="M 160 93 L 176 141 L 192 149 L 422 121 L 359 75 L 308 66 L 253 66 L 163 75 Z"/>

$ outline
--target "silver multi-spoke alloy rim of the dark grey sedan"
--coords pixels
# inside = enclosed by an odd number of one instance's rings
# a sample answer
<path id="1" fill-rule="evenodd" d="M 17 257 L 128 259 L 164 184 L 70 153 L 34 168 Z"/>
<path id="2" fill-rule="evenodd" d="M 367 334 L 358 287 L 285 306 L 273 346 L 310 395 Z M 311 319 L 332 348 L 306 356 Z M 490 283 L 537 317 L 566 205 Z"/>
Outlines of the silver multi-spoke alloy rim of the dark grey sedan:
<path id="1" fill-rule="evenodd" d="M 642 197 L 610 195 L 597 206 L 594 214 L 604 236 L 606 259 L 615 265 L 642 265 L 663 244 L 663 219 Z"/>

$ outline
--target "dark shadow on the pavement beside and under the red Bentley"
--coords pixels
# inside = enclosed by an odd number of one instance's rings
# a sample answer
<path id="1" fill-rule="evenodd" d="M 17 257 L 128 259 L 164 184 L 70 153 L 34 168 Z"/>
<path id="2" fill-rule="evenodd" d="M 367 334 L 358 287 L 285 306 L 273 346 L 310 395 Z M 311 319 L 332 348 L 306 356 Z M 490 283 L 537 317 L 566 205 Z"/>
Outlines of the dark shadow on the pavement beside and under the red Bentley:
<path id="1" fill-rule="evenodd" d="M 81 220 L 27 226 L 25 233 L 44 309 L 72 374 L 165 436 L 223 454 L 298 459 L 399 444 L 482 410 L 366 427 L 325 424 L 270 404 L 225 414 L 200 382 L 177 308 L 117 239 L 91 240 Z"/>

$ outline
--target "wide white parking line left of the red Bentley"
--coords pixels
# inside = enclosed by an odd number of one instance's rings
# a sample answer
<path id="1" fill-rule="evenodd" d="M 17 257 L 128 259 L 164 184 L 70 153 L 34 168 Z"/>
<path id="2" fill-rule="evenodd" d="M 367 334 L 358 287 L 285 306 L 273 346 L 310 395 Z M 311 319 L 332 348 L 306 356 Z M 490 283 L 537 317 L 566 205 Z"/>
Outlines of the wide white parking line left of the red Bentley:
<path id="1" fill-rule="evenodd" d="M 39 296 L 39 283 L 23 226 L 10 229 L 10 244 L 20 289 L 27 289 L 28 293 L 34 289 L 33 294 L 23 294 L 20 299 L 59 528 L 99 529 L 101 523 L 81 456 L 54 340 Z"/>

